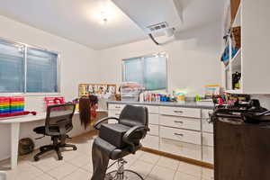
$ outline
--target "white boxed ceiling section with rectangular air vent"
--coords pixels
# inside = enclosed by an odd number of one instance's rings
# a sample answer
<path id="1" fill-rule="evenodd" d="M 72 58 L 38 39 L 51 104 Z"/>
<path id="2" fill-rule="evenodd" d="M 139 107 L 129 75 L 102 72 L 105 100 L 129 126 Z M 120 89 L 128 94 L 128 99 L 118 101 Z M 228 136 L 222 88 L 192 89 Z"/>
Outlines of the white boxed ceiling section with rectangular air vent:
<path id="1" fill-rule="evenodd" d="M 147 34 L 171 31 L 182 24 L 182 0 L 112 0 Z"/>

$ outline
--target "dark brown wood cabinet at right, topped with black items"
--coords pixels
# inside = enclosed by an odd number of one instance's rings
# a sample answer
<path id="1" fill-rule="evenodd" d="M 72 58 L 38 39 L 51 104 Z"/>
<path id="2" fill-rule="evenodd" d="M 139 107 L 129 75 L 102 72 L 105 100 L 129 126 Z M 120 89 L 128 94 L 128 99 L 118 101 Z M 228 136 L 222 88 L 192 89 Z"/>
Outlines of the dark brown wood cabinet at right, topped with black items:
<path id="1" fill-rule="evenodd" d="M 214 121 L 215 180 L 269 180 L 269 169 L 269 123 Z"/>

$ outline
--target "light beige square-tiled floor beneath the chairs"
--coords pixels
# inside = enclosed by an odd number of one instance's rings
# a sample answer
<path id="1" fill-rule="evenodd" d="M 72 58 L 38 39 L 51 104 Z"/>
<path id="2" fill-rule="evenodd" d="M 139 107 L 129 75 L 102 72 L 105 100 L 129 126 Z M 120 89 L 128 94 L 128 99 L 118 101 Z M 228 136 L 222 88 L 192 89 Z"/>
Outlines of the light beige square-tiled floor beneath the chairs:
<path id="1" fill-rule="evenodd" d="M 78 148 L 76 151 L 64 151 L 64 160 L 58 161 L 51 152 L 34 162 L 31 155 L 19 158 L 15 170 L 9 170 L 9 161 L 0 162 L 0 170 L 7 174 L 7 180 L 90 180 L 92 175 L 92 136 L 80 136 L 70 143 Z M 138 151 L 136 155 L 125 157 L 125 166 L 142 175 L 146 180 L 212 180 L 213 170 L 190 165 L 175 159 Z M 111 162 L 112 163 L 112 162 Z M 112 166 L 114 170 L 116 166 Z"/>

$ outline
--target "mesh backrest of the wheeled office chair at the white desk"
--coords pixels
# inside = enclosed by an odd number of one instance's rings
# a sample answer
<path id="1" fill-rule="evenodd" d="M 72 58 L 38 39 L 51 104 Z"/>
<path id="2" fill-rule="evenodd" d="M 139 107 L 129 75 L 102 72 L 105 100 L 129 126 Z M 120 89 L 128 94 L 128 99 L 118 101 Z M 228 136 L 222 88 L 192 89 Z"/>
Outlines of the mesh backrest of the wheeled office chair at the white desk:
<path id="1" fill-rule="evenodd" d="M 46 134 L 57 136 L 72 130 L 74 112 L 75 104 L 73 103 L 48 106 L 45 121 Z"/>

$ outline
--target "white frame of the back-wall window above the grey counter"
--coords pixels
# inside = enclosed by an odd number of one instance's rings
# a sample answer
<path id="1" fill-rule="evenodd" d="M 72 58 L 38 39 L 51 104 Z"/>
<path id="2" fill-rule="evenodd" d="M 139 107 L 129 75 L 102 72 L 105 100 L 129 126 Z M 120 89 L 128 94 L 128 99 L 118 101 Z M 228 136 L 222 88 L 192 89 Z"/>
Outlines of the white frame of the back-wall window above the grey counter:
<path id="1" fill-rule="evenodd" d="M 132 58 L 148 58 L 148 57 L 156 57 L 159 55 L 163 55 L 166 57 L 166 88 L 165 89 L 157 89 L 157 90 L 148 90 L 146 89 L 146 91 L 165 91 L 166 93 L 168 92 L 168 61 L 169 61 L 169 56 L 168 53 L 166 53 L 166 51 L 162 51 L 162 52 L 157 52 L 157 53 L 150 53 L 150 54 L 146 54 L 146 55 L 142 55 L 142 56 L 138 56 L 138 57 L 132 57 Z M 121 59 L 121 82 L 124 82 L 125 79 L 125 60 L 130 60 L 132 58 L 122 58 Z M 143 76 L 144 76 L 144 71 L 142 72 Z"/>

